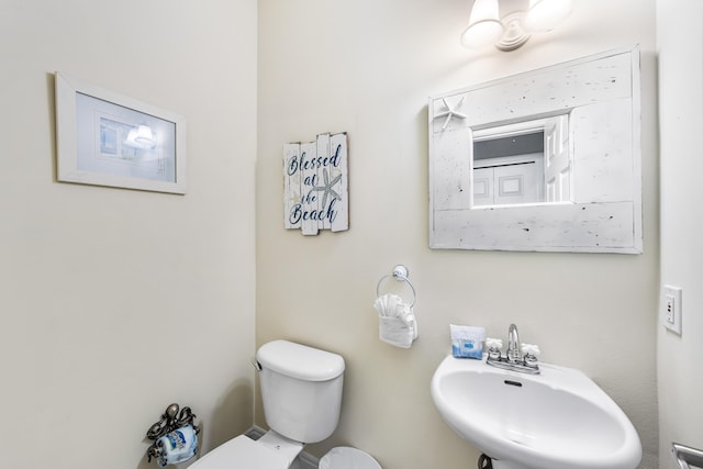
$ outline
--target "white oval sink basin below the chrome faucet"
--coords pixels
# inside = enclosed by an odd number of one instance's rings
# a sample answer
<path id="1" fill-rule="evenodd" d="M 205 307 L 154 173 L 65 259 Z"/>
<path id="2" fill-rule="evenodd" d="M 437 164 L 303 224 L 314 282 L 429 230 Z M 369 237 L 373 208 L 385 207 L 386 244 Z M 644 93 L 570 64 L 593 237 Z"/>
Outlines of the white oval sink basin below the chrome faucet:
<path id="1" fill-rule="evenodd" d="M 432 378 L 444 421 L 495 469 L 634 469 L 637 432 L 581 371 L 539 364 L 540 375 L 448 356 Z"/>

